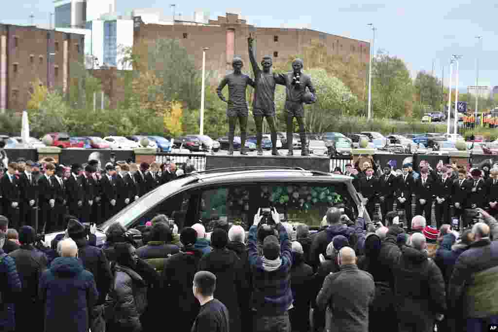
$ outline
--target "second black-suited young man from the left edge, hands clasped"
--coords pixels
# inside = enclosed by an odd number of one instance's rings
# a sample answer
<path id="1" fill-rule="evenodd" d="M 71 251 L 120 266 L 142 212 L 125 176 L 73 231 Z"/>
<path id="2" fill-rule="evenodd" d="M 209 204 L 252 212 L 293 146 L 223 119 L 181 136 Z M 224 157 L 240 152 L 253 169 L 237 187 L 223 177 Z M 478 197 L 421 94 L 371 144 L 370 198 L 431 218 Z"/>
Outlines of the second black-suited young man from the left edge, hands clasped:
<path id="1" fill-rule="evenodd" d="M 36 218 L 36 201 L 38 199 L 38 186 L 32 172 L 34 163 L 27 161 L 24 172 L 19 174 L 20 214 L 19 226 L 25 224 L 33 226 Z"/>

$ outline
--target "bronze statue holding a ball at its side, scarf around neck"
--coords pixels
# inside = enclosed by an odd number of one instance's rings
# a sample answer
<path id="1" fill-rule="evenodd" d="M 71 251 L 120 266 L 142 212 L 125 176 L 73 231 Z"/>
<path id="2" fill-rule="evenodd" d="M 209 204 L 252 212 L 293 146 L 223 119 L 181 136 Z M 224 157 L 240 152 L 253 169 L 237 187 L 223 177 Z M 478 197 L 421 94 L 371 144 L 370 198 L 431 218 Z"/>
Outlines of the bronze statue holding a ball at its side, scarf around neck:
<path id="1" fill-rule="evenodd" d="M 301 138 L 301 155 L 307 156 L 308 146 L 306 144 L 306 132 L 304 131 L 304 107 L 303 104 L 313 104 L 316 101 L 316 91 L 311 83 L 311 77 L 302 72 L 303 60 L 295 59 L 292 62 L 292 72 L 279 74 L 277 84 L 285 85 L 285 112 L 287 124 L 287 152 L 288 156 L 294 155 L 292 151 L 293 120 L 294 117 L 299 124 L 299 136 Z M 310 93 L 306 93 L 308 88 Z"/>

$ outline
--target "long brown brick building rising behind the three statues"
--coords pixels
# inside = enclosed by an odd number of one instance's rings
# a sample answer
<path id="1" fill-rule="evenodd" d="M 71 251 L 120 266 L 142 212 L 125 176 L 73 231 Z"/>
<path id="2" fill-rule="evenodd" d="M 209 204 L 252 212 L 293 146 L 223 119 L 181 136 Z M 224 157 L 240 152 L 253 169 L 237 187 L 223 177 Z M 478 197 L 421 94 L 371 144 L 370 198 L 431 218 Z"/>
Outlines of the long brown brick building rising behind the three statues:
<path id="1" fill-rule="evenodd" d="M 218 16 L 216 20 L 210 19 L 207 23 L 195 24 L 182 21 L 175 21 L 174 25 L 144 24 L 139 16 L 134 17 L 134 20 L 134 45 L 140 42 L 153 43 L 158 38 L 178 39 L 194 56 L 199 68 L 202 66 L 202 48 L 209 47 L 206 70 L 214 71 L 218 77 L 232 69 L 231 63 L 235 55 L 244 60 L 245 71 L 250 70 L 247 50 L 249 33 L 256 40 L 256 59 L 270 55 L 274 65 L 286 62 L 290 56 L 303 54 L 304 48 L 312 42 L 323 44 L 329 54 L 339 55 L 344 61 L 355 56 L 368 65 L 370 60 L 369 42 L 310 29 L 254 27 L 233 13 Z"/>

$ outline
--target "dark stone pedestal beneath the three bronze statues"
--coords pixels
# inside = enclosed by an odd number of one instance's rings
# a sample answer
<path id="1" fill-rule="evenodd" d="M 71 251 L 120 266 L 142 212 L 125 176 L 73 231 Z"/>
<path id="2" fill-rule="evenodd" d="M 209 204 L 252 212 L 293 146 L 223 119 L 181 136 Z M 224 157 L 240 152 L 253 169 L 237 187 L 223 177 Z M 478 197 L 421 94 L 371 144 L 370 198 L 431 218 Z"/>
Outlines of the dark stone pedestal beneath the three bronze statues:
<path id="1" fill-rule="evenodd" d="M 244 156 L 206 155 L 206 170 L 233 167 L 301 167 L 330 173 L 330 158 L 327 156 Z"/>

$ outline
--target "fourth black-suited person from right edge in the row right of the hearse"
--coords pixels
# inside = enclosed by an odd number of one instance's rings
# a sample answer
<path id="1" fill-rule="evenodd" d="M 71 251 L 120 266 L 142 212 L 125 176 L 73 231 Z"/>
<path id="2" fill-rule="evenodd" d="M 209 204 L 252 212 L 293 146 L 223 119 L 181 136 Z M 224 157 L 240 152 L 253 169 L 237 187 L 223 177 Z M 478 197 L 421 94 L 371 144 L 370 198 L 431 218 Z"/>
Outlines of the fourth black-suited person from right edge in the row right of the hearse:
<path id="1" fill-rule="evenodd" d="M 441 177 L 437 179 L 435 186 L 436 204 L 436 224 L 439 229 L 442 224 L 451 224 L 450 221 L 450 202 L 451 192 L 453 190 L 453 180 L 451 179 L 453 170 L 441 167 Z M 442 218 L 442 221 L 441 221 Z"/>

